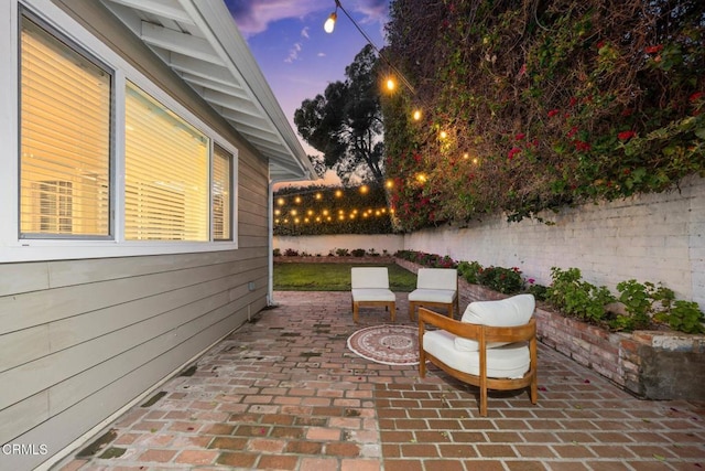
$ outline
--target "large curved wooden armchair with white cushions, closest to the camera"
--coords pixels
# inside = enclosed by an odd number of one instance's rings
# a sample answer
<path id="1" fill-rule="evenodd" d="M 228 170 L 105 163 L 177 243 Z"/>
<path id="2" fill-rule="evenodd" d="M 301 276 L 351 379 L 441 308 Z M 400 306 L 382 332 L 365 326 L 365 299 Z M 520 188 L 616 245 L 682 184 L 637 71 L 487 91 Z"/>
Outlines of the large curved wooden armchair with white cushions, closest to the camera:
<path id="1" fill-rule="evenodd" d="M 426 361 L 480 388 L 480 415 L 487 416 L 488 389 L 529 388 L 536 404 L 536 321 L 532 295 L 471 302 L 460 321 L 419 310 L 419 374 Z M 427 331 L 426 324 L 438 330 Z"/>

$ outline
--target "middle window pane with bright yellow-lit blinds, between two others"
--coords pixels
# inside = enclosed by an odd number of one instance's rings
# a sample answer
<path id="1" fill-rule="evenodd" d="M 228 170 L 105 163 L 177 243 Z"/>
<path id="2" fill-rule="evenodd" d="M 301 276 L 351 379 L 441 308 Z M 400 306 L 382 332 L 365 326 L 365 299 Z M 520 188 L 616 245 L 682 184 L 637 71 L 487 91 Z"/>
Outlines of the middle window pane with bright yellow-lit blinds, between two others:
<path id="1" fill-rule="evenodd" d="M 209 239 L 209 147 L 205 135 L 128 83 L 127 240 Z"/>

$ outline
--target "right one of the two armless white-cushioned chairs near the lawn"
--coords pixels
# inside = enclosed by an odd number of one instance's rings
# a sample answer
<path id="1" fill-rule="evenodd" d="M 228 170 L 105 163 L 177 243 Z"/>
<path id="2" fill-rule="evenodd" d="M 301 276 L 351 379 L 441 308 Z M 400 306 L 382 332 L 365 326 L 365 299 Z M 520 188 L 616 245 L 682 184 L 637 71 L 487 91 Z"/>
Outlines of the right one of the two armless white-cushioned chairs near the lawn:
<path id="1" fill-rule="evenodd" d="M 414 320 L 419 306 L 444 308 L 453 319 L 460 312 L 458 304 L 458 272 L 455 268 L 420 268 L 416 289 L 409 293 L 409 319 Z"/>

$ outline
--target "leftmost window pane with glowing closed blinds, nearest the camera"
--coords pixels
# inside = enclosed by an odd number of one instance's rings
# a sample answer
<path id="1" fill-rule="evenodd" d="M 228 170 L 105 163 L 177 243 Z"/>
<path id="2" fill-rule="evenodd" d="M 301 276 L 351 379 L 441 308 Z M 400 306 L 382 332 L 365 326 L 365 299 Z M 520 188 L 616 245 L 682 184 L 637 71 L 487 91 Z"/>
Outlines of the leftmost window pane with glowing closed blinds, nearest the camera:
<path id="1" fill-rule="evenodd" d="M 110 235 L 111 74 L 22 18 L 20 233 Z"/>

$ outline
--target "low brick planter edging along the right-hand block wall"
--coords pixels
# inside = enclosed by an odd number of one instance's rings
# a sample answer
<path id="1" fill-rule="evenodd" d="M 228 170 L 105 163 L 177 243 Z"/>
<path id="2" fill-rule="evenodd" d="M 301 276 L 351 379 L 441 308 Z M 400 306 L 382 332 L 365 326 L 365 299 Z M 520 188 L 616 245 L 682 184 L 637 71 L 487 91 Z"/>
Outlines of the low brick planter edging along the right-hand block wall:
<path id="1" fill-rule="evenodd" d="M 412 272 L 420 266 L 397 264 Z M 460 304 L 506 295 L 458 279 Z M 671 331 L 614 333 L 536 307 L 538 335 L 547 345 L 646 399 L 705 398 L 705 335 Z"/>

